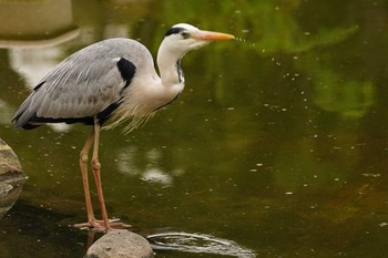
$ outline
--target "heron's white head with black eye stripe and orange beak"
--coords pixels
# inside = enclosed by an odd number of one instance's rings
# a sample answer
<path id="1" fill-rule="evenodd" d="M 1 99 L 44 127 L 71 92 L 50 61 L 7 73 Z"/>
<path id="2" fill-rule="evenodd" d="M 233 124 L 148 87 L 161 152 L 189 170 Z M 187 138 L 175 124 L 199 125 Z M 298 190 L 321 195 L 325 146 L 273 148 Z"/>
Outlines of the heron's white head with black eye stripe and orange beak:
<path id="1" fill-rule="evenodd" d="M 186 52 L 202 48 L 212 41 L 232 40 L 234 35 L 200 30 L 187 23 L 173 25 L 164 37 L 163 44 L 169 52 L 185 54 Z"/>

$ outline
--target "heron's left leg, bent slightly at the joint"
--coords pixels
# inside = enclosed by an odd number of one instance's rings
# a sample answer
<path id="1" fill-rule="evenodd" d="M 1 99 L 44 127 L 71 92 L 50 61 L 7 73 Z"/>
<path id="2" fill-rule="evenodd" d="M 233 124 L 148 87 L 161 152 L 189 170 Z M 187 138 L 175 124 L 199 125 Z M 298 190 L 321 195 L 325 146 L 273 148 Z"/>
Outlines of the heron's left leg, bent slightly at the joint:
<path id="1" fill-rule="evenodd" d="M 89 190 L 88 156 L 89 156 L 90 147 L 93 144 L 93 141 L 94 141 L 94 128 L 90 133 L 88 141 L 85 142 L 85 145 L 83 146 L 81 154 L 80 154 L 80 167 L 81 167 L 81 174 L 82 174 L 83 190 L 85 194 L 88 221 L 91 225 L 95 221 L 95 217 L 94 217 L 92 199 L 90 197 L 90 190 Z"/>

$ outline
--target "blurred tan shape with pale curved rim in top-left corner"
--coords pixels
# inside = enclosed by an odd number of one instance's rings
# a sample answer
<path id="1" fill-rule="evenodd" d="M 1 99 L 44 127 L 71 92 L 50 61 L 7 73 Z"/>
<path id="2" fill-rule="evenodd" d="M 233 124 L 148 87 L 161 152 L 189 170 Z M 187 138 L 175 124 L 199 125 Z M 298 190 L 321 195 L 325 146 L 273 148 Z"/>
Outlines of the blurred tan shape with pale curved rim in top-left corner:
<path id="1" fill-rule="evenodd" d="M 2 1 L 0 48 L 59 44 L 76 35 L 70 0 Z"/>

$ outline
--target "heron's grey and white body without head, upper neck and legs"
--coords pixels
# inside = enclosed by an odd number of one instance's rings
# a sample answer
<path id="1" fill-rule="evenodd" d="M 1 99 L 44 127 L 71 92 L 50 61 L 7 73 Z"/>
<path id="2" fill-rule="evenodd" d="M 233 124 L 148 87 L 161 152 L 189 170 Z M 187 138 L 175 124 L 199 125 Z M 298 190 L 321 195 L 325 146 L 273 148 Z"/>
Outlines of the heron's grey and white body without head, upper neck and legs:
<path id="1" fill-rule="evenodd" d="M 100 124 L 113 116 L 116 123 L 132 117 L 131 125 L 135 126 L 172 102 L 183 86 L 182 79 L 172 86 L 162 83 L 143 44 L 131 39 L 109 39 L 75 52 L 44 76 L 14 115 L 16 125 L 92 125 L 95 116 Z"/>

